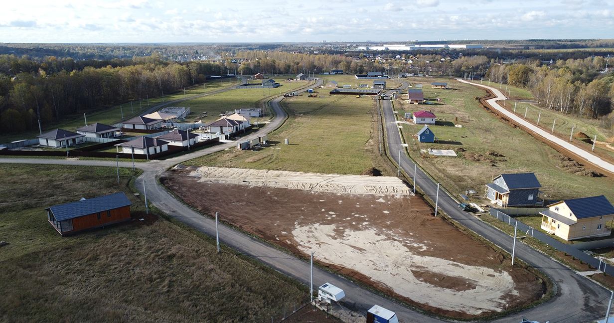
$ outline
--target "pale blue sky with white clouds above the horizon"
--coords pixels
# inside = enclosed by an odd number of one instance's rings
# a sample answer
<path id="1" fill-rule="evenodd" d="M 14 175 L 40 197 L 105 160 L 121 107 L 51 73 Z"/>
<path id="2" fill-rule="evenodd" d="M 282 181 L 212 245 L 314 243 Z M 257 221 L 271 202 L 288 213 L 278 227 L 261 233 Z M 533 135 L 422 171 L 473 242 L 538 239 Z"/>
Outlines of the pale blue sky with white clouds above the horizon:
<path id="1" fill-rule="evenodd" d="M 614 0 L 7 0 L 0 42 L 614 38 Z"/>

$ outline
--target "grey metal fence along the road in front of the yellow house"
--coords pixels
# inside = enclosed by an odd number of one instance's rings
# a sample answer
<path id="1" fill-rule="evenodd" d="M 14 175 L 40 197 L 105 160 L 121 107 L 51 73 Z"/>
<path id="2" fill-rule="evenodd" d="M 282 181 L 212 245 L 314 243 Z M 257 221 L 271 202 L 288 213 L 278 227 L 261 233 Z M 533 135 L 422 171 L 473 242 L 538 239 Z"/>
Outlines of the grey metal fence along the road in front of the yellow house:
<path id="1" fill-rule="evenodd" d="M 573 257 L 576 257 L 577 259 L 580 259 L 581 261 L 586 262 L 589 265 L 597 268 L 597 270 L 603 271 L 604 273 L 614 276 L 614 267 L 607 266 L 607 264 L 602 260 L 596 259 L 595 257 L 592 257 L 591 255 L 576 249 L 570 244 L 562 243 L 561 241 L 558 241 L 557 239 L 554 239 L 551 236 L 540 232 L 539 230 L 535 231 L 535 228 L 529 227 L 529 225 L 526 225 L 523 222 L 513 219 L 513 217 L 510 217 L 505 214 L 505 211 L 507 210 L 491 208 L 489 213 L 491 214 L 491 216 L 496 217 L 497 220 L 501 220 L 502 222 L 505 222 L 511 227 L 515 227 L 516 222 L 518 222 L 518 230 L 521 232 L 525 232 L 527 236 L 532 236 L 533 238 L 538 239 L 545 244 L 548 244 L 548 246 L 551 246 L 558 251 L 570 254 Z"/>

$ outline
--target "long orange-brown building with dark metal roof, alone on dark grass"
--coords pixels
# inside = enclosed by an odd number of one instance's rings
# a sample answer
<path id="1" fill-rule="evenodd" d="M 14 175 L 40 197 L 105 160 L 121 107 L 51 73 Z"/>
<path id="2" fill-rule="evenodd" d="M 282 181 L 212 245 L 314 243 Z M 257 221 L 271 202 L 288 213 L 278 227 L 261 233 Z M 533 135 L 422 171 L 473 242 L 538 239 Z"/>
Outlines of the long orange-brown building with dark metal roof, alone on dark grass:
<path id="1" fill-rule="evenodd" d="M 123 192 L 46 208 L 47 220 L 60 235 L 130 220 L 130 200 Z"/>

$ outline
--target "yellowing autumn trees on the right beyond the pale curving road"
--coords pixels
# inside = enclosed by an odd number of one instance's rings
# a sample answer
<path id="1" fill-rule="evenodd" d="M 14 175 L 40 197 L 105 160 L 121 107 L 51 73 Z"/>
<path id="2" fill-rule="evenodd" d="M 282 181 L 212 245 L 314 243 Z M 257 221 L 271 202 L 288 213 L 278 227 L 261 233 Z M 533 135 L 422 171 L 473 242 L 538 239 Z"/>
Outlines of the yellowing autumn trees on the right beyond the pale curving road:
<path id="1" fill-rule="evenodd" d="M 487 76 L 530 90 L 543 107 L 564 114 L 599 118 L 614 109 L 614 75 L 604 71 L 600 56 L 583 60 L 559 60 L 550 66 L 493 64 Z"/>

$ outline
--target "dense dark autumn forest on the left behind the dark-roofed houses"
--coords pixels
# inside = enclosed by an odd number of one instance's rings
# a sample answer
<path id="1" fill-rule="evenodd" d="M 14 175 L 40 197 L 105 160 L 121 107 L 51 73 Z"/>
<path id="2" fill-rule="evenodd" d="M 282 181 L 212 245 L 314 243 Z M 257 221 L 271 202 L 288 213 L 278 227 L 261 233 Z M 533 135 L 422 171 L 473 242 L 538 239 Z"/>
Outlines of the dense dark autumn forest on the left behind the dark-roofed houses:
<path id="1" fill-rule="evenodd" d="M 36 72 L 20 72 L 13 77 L 0 74 L 2 133 L 34 130 L 38 120 L 57 122 L 67 114 L 168 94 L 204 82 L 206 75 L 227 72 L 223 64 L 168 63 L 155 57 L 116 67 L 85 66 L 72 71 L 47 69 L 49 73 L 45 71 L 45 64 L 31 61 L 31 66 L 38 67 Z M 20 63 L 20 66 L 25 64 Z M 67 65 L 61 61 L 57 66 Z"/>

